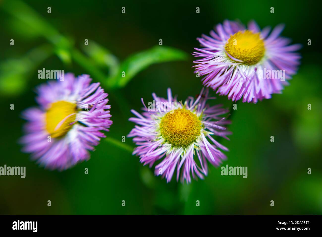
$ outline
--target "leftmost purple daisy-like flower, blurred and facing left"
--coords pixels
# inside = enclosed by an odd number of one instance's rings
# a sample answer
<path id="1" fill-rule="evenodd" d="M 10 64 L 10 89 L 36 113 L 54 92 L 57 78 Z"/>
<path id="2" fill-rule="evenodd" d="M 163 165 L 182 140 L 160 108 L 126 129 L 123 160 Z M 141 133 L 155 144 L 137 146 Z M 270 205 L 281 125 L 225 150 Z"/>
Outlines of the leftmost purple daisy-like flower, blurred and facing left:
<path id="1" fill-rule="evenodd" d="M 66 74 L 63 81 L 42 84 L 36 98 L 40 107 L 23 113 L 23 151 L 48 169 L 65 170 L 88 160 L 89 150 L 105 137 L 100 131 L 109 131 L 108 94 L 91 80 L 89 75 Z"/>

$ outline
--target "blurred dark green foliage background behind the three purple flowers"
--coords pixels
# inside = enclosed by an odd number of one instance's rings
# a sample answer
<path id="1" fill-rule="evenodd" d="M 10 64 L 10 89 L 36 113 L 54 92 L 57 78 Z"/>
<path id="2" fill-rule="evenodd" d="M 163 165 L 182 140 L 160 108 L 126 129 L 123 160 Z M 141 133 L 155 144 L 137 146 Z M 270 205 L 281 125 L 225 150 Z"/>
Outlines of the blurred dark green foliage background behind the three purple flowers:
<path id="1" fill-rule="evenodd" d="M 198 94 L 202 84 L 191 68 L 196 37 L 224 19 L 254 19 L 261 28 L 285 23 L 282 35 L 303 45 L 298 74 L 283 94 L 257 104 L 240 101 L 232 115 L 231 141 L 221 140 L 230 149 L 223 165 L 248 166 L 246 179 L 221 176 L 220 167 L 210 166 L 205 180 L 167 184 L 131 155 L 130 138 L 121 143 L 134 126 L 130 109 L 140 110 L 141 97 L 152 101 L 152 92 L 166 97 L 168 87 L 179 100 Z M 0 176 L 0 214 L 322 214 L 319 7 L 309 1 L 12 0 L 0 1 L 0 20 L 0 166 L 26 166 L 24 179 Z M 36 105 L 33 89 L 46 80 L 37 77 L 43 67 L 90 74 L 112 106 L 108 138 L 88 162 L 64 172 L 39 167 L 17 143 L 21 112 Z M 125 86 L 115 84 L 122 68 L 132 70 Z M 218 103 L 232 105 L 226 96 L 210 101 Z"/>

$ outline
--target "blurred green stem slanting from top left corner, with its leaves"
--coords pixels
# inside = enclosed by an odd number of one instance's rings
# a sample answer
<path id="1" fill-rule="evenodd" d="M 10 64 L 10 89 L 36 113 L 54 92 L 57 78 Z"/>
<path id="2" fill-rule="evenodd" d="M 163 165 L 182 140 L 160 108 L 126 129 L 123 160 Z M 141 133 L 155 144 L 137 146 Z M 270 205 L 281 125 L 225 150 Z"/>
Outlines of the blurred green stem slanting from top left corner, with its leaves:
<path id="1" fill-rule="evenodd" d="M 128 57 L 119 65 L 117 58 L 113 54 L 92 41 L 89 42 L 89 45 L 86 45 L 88 47 L 84 47 L 84 51 L 90 56 L 88 58 L 73 47 L 71 39 L 61 35 L 41 15 L 24 2 L 20 0 L 5 1 L 2 7 L 18 21 L 21 21 L 22 25 L 30 28 L 33 31 L 33 36 L 43 36 L 51 42 L 54 45 L 54 53 L 65 64 L 71 64 L 71 60 L 75 61 L 87 70 L 93 78 L 103 82 L 106 89 L 117 89 L 126 86 L 137 73 L 151 64 L 187 59 L 187 54 L 179 49 L 157 45 Z M 21 33 L 24 34 L 26 31 Z M 109 69 L 108 76 L 100 70 L 101 67 Z M 125 72 L 125 77 L 122 77 L 123 72 Z"/>

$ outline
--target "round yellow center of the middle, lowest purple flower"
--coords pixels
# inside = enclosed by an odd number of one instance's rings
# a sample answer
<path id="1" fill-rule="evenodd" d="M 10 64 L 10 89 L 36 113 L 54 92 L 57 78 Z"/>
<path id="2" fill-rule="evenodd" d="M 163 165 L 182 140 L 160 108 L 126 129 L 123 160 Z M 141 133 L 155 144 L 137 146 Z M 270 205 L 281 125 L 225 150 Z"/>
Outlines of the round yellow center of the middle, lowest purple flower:
<path id="1" fill-rule="evenodd" d="M 198 117 L 187 109 L 176 109 L 165 114 L 160 122 L 162 137 L 175 147 L 186 147 L 196 141 L 202 124 Z"/>

